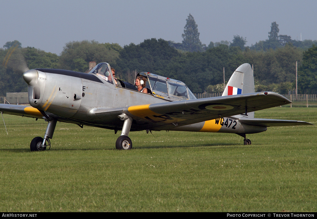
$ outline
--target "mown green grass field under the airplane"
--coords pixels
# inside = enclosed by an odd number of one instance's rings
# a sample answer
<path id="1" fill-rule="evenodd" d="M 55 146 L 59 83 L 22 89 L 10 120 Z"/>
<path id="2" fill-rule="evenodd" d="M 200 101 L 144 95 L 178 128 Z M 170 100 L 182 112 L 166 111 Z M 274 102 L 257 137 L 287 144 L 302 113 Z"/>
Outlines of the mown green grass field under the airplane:
<path id="1" fill-rule="evenodd" d="M 315 212 L 316 126 L 224 133 L 130 132 L 118 151 L 113 131 L 57 123 L 50 150 L 31 152 L 47 123 L 3 115 L 0 212 Z M 256 117 L 317 124 L 316 108 Z"/>

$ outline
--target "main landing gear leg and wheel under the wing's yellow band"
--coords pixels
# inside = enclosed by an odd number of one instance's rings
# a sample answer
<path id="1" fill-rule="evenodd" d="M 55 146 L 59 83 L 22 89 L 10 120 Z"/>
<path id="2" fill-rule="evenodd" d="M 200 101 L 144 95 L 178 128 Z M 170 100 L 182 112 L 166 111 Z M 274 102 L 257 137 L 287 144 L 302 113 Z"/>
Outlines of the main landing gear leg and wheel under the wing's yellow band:
<path id="1" fill-rule="evenodd" d="M 125 113 L 118 116 L 121 120 L 124 121 L 121 136 L 116 141 L 116 149 L 118 150 L 130 150 L 132 148 L 132 141 L 128 137 L 131 124 L 132 124 L 132 118 Z"/>

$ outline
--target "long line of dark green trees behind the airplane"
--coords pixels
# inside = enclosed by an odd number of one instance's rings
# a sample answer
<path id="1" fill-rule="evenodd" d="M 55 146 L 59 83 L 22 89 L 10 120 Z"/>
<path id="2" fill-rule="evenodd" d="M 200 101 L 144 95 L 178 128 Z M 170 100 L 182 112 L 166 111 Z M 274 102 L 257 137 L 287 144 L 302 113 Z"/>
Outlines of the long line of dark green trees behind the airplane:
<path id="1" fill-rule="evenodd" d="M 206 47 L 199 43 L 193 17 L 190 15 L 186 21 L 184 40 L 178 44 L 179 48 L 155 38 L 123 48 L 117 43 L 76 41 L 66 43 L 61 55 L 57 56 L 31 47 L 22 48 L 18 41 L 7 42 L 0 49 L 0 96 L 5 96 L 6 92 L 26 92 L 22 74 L 28 69 L 59 68 L 85 72 L 90 61 L 108 62 L 120 79 L 130 83 L 134 82 L 135 71 L 147 71 L 183 81 L 194 93 L 221 92 L 223 68 L 225 80 L 229 80 L 239 65 L 250 63 L 254 66 L 257 91 L 272 90 L 282 94 L 295 88 L 297 62 L 298 93 L 316 93 L 317 47 L 312 45 L 305 50 L 292 42 L 283 43 L 290 37 L 278 35 L 276 23 L 272 23 L 268 40 L 256 45 L 259 48 L 260 44 L 273 41 L 279 45 L 275 49 L 257 50 L 245 47 L 246 38 L 238 35 L 234 36 L 232 43 L 211 42 Z M 191 32 L 192 29 L 196 30 Z"/>

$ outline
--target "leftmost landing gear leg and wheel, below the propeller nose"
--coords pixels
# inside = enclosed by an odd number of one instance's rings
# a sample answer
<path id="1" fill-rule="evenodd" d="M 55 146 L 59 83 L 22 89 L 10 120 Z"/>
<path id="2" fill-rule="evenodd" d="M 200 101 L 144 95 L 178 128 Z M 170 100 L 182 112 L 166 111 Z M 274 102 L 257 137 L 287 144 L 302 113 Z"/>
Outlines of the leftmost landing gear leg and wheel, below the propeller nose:
<path id="1" fill-rule="evenodd" d="M 47 125 L 44 138 L 35 137 L 32 139 L 31 144 L 30 144 L 31 151 L 41 151 L 41 150 L 46 150 L 47 146 L 51 147 L 51 142 L 49 141 L 49 139 L 52 139 L 52 137 L 53 137 L 57 120 L 54 119 L 54 120 L 50 120 L 48 122 L 49 123 Z M 46 144 L 46 142 L 48 144 Z"/>

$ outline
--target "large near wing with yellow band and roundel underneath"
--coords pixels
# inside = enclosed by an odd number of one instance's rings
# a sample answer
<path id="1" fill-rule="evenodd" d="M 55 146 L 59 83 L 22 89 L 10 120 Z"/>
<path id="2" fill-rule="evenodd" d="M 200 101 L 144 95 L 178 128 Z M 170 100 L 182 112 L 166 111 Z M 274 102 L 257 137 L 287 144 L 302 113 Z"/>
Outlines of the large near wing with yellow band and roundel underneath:
<path id="1" fill-rule="evenodd" d="M 291 102 L 277 93 L 259 92 L 135 105 L 123 109 L 111 110 L 99 108 L 94 111 L 94 116 L 106 121 L 109 119 L 109 116 L 126 113 L 136 121 L 136 123 L 132 124 L 131 129 L 167 130 L 177 126 L 244 114 L 288 103 Z"/>

